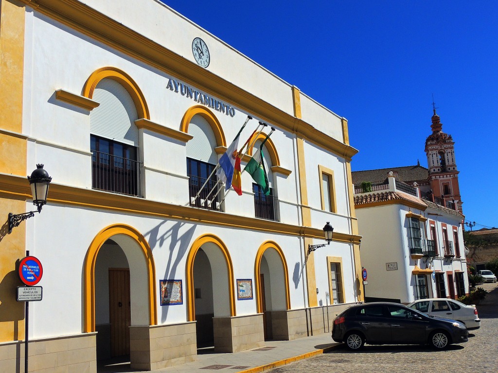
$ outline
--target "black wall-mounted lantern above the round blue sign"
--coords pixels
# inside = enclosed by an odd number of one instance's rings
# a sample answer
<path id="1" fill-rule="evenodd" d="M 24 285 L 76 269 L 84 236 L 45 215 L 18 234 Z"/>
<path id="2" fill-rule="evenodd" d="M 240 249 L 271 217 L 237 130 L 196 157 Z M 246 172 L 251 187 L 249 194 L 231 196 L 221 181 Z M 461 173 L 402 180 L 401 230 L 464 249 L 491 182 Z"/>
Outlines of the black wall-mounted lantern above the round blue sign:
<path id="1" fill-rule="evenodd" d="M 36 205 L 38 213 L 41 208 L 47 203 L 48 186 L 52 178 L 48 173 L 43 170 L 43 165 L 36 165 L 36 170 L 28 176 L 28 181 L 31 186 L 31 193 L 33 194 L 33 204 Z M 24 212 L 22 214 L 8 213 L 8 233 L 12 232 L 14 227 L 19 226 L 21 221 L 34 216 L 34 211 Z"/>

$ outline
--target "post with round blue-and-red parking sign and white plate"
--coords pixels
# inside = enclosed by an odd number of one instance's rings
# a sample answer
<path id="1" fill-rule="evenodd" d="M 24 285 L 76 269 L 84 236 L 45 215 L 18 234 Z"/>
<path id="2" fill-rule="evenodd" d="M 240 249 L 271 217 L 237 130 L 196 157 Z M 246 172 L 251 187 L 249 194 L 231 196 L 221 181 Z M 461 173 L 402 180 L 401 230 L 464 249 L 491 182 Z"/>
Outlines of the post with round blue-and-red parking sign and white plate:
<path id="1" fill-rule="evenodd" d="M 28 317 L 29 301 L 41 300 L 42 287 L 33 286 L 40 282 L 43 275 L 43 267 L 35 257 L 29 256 L 26 250 L 26 257 L 19 262 L 19 278 L 27 286 L 17 287 L 17 301 L 24 302 L 24 372 L 28 373 Z"/>

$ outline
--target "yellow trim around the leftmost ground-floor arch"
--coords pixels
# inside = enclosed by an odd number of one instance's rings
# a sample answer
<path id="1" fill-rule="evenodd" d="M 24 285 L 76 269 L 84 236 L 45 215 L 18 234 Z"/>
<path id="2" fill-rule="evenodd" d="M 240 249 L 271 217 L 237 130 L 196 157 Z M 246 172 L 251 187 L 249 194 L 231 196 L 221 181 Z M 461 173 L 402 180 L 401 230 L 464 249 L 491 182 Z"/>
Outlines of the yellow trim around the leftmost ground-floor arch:
<path id="1" fill-rule="evenodd" d="M 148 282 L 148 298 L 149 298 L 149 325 L 157 325 L 157 310 L 156 310 L 156 287 L 155 287 L 155 265 L 152 256 L 152 250 L 136 229 L 125 224 L 114 224 L 102 229 L 93 239 L 88 248 L 85 257 L 84 265 L 84 332 L 95 332 L 95 263 L 102 245 L 111 237 L 118 234 L 124 234 L 136 241 L 142 249 L 147 265 L 147 282 Z"/>

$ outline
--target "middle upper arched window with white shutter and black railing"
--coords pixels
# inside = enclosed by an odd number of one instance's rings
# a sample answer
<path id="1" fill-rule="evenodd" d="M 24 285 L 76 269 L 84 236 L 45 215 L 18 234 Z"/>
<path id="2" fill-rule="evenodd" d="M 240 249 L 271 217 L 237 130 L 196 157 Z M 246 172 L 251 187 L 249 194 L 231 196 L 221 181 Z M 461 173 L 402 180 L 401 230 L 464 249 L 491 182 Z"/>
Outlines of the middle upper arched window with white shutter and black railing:
<path id="1" fill-rule="evenodd" d="M 195 114 L 190 119 L 187 133 L 193 136 L 186 147 L 190 204 L 219 210 L 223 193 L 216 195 L 217 190 L 213 190 L 217 184 L 216 174 L 211 175 L 218 164 L 218 155 L 214 150 L 218 146 L 215 133 L 201 114 Z"/>

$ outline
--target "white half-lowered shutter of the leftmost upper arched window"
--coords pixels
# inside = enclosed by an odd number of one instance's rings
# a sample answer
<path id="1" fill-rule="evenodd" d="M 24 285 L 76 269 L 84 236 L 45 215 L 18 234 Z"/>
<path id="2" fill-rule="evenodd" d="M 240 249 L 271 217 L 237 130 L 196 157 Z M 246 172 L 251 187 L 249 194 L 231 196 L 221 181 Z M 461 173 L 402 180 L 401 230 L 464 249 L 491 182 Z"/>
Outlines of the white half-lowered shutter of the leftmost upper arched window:
<path id="1" fill-rule="evenodd" d="M 136 106 L 128 91 L 118 82 L 105 78 L 95 88 L 92 99 L 99 102 L 90 112 L 90 133 L 138 147 Z"/>

